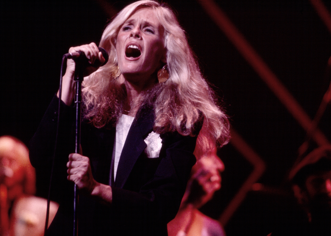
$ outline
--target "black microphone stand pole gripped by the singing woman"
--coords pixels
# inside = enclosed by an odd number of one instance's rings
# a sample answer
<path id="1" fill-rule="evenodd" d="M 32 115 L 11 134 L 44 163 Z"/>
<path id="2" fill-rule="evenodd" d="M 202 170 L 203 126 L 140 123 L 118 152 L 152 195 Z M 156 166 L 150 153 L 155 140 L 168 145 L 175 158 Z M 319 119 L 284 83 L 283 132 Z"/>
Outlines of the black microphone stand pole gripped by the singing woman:
<path id="1" fill-rule="evenodd" d="M 75 153 L 80 153 L 80 124 L 81 124 L 81 84 L 84 79 L 83 77 L 83 63 L 76 62 L 74 81 L 76 85 L 75 93 L 75 107 L 76 107 L 76 144 Z M 78 234 L 78 188 L 74 185 L 74 200 L 73 200 L 73 236 Z"/>

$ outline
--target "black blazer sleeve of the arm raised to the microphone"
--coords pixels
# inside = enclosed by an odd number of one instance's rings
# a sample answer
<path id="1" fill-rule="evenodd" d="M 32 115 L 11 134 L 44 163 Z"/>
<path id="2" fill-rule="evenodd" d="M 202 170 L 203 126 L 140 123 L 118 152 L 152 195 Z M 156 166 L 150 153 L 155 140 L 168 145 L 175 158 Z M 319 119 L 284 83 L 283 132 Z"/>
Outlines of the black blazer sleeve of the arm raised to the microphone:
<path id="1" fill-rule="evenodd" d="M 34 136 L 29 144 L 30 162 L 36 169 L 37 196 L 47 198 L 53 163 L 55 138 L 58 120 L 59 99 L 55 95 L 48 106 Z M 73 107 L 61 101 L 60 126 L 55 155 L 55 166 L 52 182 L 52 200 L 61 203 L 61 194 L 65 194 L 71 184 L 67 180 L 68 155 L 74 152 L 72 120 L 75 117 Z"/>

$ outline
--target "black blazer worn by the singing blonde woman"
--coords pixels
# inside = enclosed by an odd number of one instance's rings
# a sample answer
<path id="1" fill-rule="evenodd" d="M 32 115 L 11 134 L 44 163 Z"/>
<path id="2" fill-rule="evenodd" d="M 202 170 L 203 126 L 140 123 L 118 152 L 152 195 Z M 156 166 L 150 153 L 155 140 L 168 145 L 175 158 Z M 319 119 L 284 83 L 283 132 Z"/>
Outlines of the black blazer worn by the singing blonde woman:
<path id="1" fill-rule="evenodd" d="M 36 168 L 37 188 L 47 189 L 57 121 L 55 96 L 30 142 L 30 161 Z M 74 109 L 61 105 L 60 132 L 52 182 L 52 200 L 60 204 L 49 235 L 72 235 L 73 183 L 67 180 L 68 155 L 74 152 Z M 196 137 L 177 132 L 161 134 L 158 158 L 148 158 L 145 138 L 153 131 L 153 109 L 145 108 L 135 118 L 127 135 L 110 207 L 84 194 L 79 195 L 80 235 L 167 235 L 166 224 L 176 215 L 191 167 Z M 198 125 L 200 130 L 202 122 Z M 109 184 L 115 128 L 96 128 L 82 122 L 83 155 L 90 158 L 93 177 Z M 45 181 L 46 180 L 46 181 Z"/>

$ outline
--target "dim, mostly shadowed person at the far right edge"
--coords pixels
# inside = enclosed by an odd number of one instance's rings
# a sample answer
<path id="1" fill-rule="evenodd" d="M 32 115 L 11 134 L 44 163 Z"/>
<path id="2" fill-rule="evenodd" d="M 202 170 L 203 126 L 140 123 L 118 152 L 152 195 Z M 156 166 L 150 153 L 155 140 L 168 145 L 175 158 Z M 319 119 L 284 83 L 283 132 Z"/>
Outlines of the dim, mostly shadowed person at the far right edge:
<path id="1" fill-rule="evenodd" d="M 310 152 L 293 167 L 289 180 L 301 211 L 270 235 L 331 235 L 331 145 Z"/>

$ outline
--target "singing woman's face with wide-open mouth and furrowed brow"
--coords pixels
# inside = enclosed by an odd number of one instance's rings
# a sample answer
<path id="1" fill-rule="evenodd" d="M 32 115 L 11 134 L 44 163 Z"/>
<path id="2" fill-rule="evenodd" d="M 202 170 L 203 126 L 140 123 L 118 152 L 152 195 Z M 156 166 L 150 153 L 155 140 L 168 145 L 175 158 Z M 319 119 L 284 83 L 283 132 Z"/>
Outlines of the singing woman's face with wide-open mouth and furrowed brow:
<path id="1" fill-rule="evenodd" d="M 163 37 L 164 28 L 151 8 L 139 9 L 126 20 L 116 42 L 118 67 L 125 78 L 150 78 L 165 61 Z"/>

